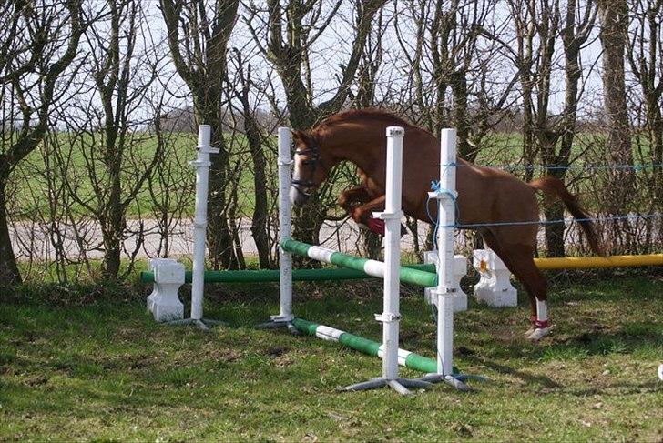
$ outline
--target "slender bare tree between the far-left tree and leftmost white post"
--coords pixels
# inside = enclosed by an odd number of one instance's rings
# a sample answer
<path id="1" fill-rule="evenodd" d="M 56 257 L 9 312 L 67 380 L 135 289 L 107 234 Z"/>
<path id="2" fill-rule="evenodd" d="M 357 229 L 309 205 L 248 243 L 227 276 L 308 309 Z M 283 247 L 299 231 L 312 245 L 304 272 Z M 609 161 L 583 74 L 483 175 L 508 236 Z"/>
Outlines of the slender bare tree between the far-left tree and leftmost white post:
<path id="1" fill-rule="evenodd" d="M 62 165 L 70 165 L 72 150 L 79 152 L 86 165 L 86 188 L 70 187 L 71 196 L 93 216 L 103 239 L 103 272 L 117 278 L 124 239 L 128 234 L 127 211 L 135 203 L 158 162 L 161 144 L 149 156 L 150 136 L 144 127 L 149 117 L 139 118 L 138 109 L 147 102 L 150 86 L 158 75 L 158 60 L 148 56 L 149 40 L 141 39 L 144 22 L 141 2 L 107 2 L 108 19 L 97 21 L 86 33 L 89 47 L 87 68 L 97 100 L 76 109 L 78 116 L 67 118 L 72 146 Z M 141 41 L 142 40 L 142 41 Z M 158 110 L 157 110 L 158 112 Z M 70 183 L 67 181 L 67 183 Z M 138 224 L 141 229 L 142 224 Z M 134 233 L 138 239 L 142 232 Z M 140 242 L 129 256 L 135 256 Z M 125 275 L 131 271 L 130 262 Z"/>

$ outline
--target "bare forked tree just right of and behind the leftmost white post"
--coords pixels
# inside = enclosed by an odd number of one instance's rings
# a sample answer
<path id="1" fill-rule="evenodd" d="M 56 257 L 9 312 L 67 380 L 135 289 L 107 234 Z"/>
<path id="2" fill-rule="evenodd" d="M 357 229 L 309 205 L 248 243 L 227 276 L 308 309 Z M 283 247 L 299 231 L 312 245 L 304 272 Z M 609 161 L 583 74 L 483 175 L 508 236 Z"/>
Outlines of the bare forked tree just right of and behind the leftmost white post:
<path id="1" fill-rule="evenodd" d="M 211 145 L 219 148 L 209 169 L 208 244 L 212 267 L 239 266 L 227 213 L 229 152 L 223 137 L 227 49 L 239 3 L 159 0 L 173 64 L 193 95 L 199 123 L 212 126 Z"/>

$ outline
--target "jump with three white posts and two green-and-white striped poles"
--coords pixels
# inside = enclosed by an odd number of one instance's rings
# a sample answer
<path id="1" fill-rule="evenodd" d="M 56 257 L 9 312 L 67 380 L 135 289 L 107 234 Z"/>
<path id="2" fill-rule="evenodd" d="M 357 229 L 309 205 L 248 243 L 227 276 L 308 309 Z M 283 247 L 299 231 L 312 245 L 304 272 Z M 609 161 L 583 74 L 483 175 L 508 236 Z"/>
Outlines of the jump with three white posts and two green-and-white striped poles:
<path id="1" fill-rule="evenodd" d="M 440 166 L 441 191 L 431 194 L 439 205 L 438 251 L 436 273 L 400 266 L 401 184 L 403 161 L 403 128 L 387 128 L 387 170 L 385 209 L 373 216 L 385 222 L 384 262 L 352 257 L 324 247 L 311 246 L 291 238 L 291 131 L 279 129 L 279 203 L 280 203 L 280 312 L 270 318 L 267 327 L 288 326 L 301 332 L 340 341 L 345 346 L 382 358 L 382 377 L 351 385 L 344 390 L 362 390 L 389 386 L 397 392 L 408 394 L 408 387 L 425 388 L 433 381 L 445 381 L 454 388 L 466 389 L 462 378 L 454 374 L 453 367 L 453 318 L 456 276 L 454 276 L 454 211 L 455 211 L 455 131 L 442 133 L 443 165 Z M 295 318 L 292 314 L 292 254 L 309 257 L 324 263 L 350 268 L 372 277 L 383 278 L 382 314 L 376 320 L 382 322 L 382 345 L 372 340 L 348 334 L 339 329 L 325 327 Z M 430 265 L 428 265 L 430 266 Z M 434 266 L 434 265 L 433 265 Z M 431 297 L 438 307 L 437 357 L 425 359 L 398 347 L 399 343 L 399 285 L 411 283 L 432 287 Z M 466 301 L 465 301 L 466 303 Z M 419 362 L 412 363 L 412 362 Z M 410 365 L 408 365 L 410 362 Z M 422 363 L 423 362 L 423 363 Z M 398 377 L 399 363 L 415 365 L 428 372 L 417 379 Z"/>

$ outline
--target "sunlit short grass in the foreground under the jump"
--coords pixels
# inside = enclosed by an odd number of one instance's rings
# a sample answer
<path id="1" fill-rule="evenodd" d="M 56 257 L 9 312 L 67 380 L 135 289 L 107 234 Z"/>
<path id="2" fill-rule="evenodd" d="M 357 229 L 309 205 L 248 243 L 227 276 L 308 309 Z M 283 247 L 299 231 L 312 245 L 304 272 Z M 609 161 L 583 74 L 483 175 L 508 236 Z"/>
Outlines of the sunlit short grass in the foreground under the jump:
<path id="1" fill-rule="evenodd" d="M 660 441 L 663 279 L 574 276 L 553 278 L 554 329 L 539 344 L 523 336 L 522 302 L 471 300 L 455 317 L 454 363 L 489 381 L 411 398 L 338 394 L 378 376 L 379 361 L 256 330 L 276 312 L 272 285 L 210 287 L 206 314 L 229 326 L 209 333 L 155 324 L 128 289 L 26 291 L 0 310 L 0 440 Z M 379 339 L 380 287 L 299 285 L 296 312 Z M 402 346 L 432 356 L 420 295 L 405 294 L 402 312 Z"/>

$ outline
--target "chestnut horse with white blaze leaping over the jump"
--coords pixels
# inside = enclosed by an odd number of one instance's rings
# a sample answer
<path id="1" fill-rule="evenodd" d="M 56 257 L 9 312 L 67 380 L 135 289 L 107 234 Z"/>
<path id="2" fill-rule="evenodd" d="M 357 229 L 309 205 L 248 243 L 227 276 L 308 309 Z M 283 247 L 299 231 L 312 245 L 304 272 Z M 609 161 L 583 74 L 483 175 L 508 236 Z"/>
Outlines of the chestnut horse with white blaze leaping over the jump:
<path id="1" fill-rule="evenodd" d="M 437 208 L 434 202 L 427 207 L 427 192 L 431 181 L 439 179 L 440 142 L 428 131 L 380 110 L 342 112 L 327 118 L 311 131 L 295 131 L 292 203 L 303 204 L 326 179 L 332 167 L 349 161 L 357 166 L 361 186 L 343 191 L 338 203 L 355 222 L 374 229 L 372 212 L 384 209 L 387 126 L 403 126 L 405 129 L 403 212 L 432 223 L 428 212 L 434 220 Z M 543 191 L 560 198 L 569 212 L 579 219 L 589 245 L 600 254 L 593 224 L 586 220 L 585 212 L 576 203 L 576 196 L 571 195 L 564 183 L 555 177 L 546 176 L 525 183 L 505 171 L 476 166 L 460 158 L 456 167 L 456 223 L 478 231 L 488 247 L 525 287 L 531 309 L 527 337 L 538 340 L 546 336 L 546 278 L 534 262 L 539 221 L 535 192 Z M 503 222 L 523 224 L 500 225 Z"/>

